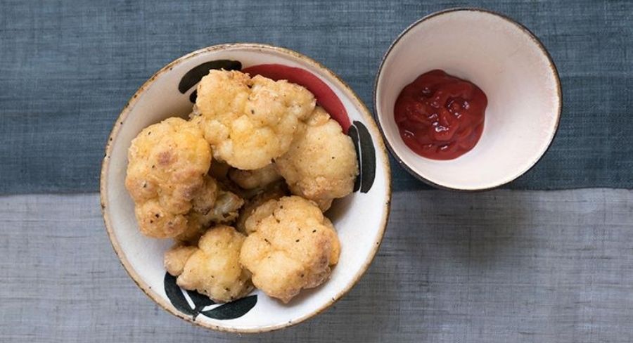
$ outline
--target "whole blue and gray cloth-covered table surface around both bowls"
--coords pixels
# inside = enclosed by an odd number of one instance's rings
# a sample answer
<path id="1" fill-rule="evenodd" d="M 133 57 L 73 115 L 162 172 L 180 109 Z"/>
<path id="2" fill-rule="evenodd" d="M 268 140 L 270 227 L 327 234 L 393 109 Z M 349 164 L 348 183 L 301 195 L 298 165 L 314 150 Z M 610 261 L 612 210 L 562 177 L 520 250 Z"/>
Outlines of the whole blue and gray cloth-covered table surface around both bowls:
<path id="1" fill-rule="evenodd" d="M 258 41 L 328 65 L 371 105 L 392 39 L 464 5 L 523 22 L 558 66 L 561 126 L 528 174 L 452 193 L 392 164 L 371 268 L 287 330 L 198 328 L 128 278 L 103 228 L 98 169 L 153 72 Z M 0 342 L 633 342 L 632 80 L 633 1 L 0 0 Z"/>

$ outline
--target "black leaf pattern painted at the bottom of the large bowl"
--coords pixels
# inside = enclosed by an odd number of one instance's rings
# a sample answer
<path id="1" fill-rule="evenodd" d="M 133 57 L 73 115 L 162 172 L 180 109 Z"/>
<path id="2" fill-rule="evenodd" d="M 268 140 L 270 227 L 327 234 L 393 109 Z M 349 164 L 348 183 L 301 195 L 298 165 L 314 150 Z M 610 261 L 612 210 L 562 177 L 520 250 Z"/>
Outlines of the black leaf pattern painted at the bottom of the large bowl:
<path id="1" fill-rule="evenodd" d="M 198 317 L 199 314 L 208 318 L 219 320 L 240 318 L 248 313 L 250 309 L 255 307 L 255 304 L 257 304 L 257 295 L 250 295 L 249 297 L 238 299 L 234 302 L 228 302 L 226 304 L 216 306 L 213 309 L 203 311 L 207 306 L 212 306 L 217 303 L 212 299 L 209 299 L 206 295 L 201 295 L 198 292 L 182 290 L 177 285 L 176 278 L 170 273 L 165 273 L 164 284 L 165 294 L 167 295 L 167 298 L 170 299 L 170 302 L 172 302 L 172 305 L 174 305 L 174 307 L 182 313 L 191 316 L 193 321 L 196 320 L 196 317 Z M 184 292 L 187 292 L 189 299 L 193 302 L 193 309 L 187 302 Z"/>

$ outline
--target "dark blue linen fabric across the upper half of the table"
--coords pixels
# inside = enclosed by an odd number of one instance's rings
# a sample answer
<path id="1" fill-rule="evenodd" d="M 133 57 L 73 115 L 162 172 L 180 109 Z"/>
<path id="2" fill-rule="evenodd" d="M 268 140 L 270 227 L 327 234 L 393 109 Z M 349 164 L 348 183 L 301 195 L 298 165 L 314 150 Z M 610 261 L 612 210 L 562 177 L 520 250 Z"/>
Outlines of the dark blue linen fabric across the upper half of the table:
<path id="1" fill-rule="evenodd" d="M 563 117 L 516 189 L 633 188 L 632 1 L 0 1 L 0 194 L 98 190 L 127 99 L 190 51 L 288 48 L 338 73 L 371 108 L 391 41 L 434 11 L 478 6 L 530 28 L 563 84 Z M 395 190 L 425 188 L 394 166 Z"/>

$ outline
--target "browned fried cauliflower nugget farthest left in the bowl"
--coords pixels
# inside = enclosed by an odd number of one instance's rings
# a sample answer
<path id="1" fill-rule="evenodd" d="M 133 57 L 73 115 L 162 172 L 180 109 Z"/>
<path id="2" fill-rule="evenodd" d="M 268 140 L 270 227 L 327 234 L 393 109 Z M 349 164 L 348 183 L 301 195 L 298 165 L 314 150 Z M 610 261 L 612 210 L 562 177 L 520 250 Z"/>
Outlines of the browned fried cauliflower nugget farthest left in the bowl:
<path id="1" fill-rule="evenodd" d="M 181 118 L 146 127 L 132 140 L 125 187 L 143 234 L 170 238 L 186 230 L 185 214 L 203 188 L 210 164 L 203 132 Z"/>

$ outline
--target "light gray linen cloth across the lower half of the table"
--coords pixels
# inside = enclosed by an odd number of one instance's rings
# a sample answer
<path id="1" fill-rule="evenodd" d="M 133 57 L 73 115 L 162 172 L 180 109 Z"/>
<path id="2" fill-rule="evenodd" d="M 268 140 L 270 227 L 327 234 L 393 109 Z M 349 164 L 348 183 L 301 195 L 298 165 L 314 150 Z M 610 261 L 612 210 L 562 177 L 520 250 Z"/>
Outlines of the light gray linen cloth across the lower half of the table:
<path id="1" fill-rule="evenodd" d="M 633 190 L 395 193 L 352 292 L 307 323 L 243 337 L 143 295 L 98 203 L 0 197 L 0 342 L 633 341 Z"/>

